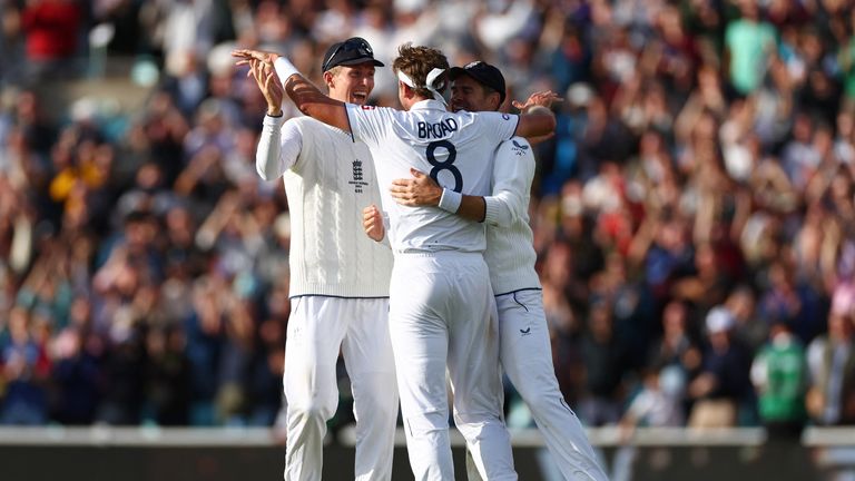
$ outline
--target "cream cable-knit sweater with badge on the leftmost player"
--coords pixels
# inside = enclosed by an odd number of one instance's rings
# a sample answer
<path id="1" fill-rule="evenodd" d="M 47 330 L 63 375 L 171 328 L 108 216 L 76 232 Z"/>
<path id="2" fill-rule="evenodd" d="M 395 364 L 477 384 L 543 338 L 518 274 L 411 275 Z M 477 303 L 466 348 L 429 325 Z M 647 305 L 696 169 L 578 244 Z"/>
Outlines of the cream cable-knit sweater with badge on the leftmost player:
<path id="1" fill-rule="evenodd" d="M 291 297 L 389 296 L 392 253 L 362 227 L 362 209 L 381 202 L 365 144 L 309 117 L 265 116 L 256 168 L 267 180 L 284 178 Z"/>

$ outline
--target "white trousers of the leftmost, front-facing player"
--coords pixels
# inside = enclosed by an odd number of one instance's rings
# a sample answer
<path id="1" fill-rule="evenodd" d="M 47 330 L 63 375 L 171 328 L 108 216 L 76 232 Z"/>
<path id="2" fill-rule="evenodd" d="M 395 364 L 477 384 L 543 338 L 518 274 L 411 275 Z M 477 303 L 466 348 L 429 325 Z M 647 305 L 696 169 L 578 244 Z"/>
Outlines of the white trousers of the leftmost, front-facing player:
<path id="1" fill-rule="evenodd" d="M 320 481 L 326 422 L 338 405 L 341 351 L 356 418 L 357 481 L 390 480 L 397 389 L 389 301 L 304 296 L 291 302 L 285 341 L 286 481 Z"/>

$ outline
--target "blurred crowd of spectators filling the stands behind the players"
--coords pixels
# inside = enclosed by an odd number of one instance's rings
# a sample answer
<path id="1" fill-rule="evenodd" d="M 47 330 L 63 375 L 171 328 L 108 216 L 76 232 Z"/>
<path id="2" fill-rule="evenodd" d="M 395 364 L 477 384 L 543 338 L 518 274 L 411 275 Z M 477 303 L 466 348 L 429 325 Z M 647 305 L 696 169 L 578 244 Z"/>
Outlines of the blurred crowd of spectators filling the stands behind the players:
<path id="1" fill-rule="evenodd" d="M 531 215 L 584 423 L 855 423 L 852 0 L 0 8 L 0 424 L 274 422 L 287 199 L 255 173 L 265 102 L 228 52 L 288 52 L 317 80 L 350 36 L 387 65 L 412 41 L 497 65 L 511 99 L 564 96 Z M 141 109 L 42 101 L 97 81 L 99 51 L 132 59 Z M 395 106 L 387 70 L 373 102 Z M 532 423 L 510 386 L 507 404 Z"/>

